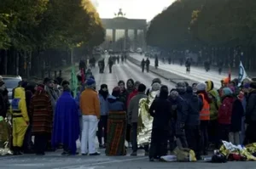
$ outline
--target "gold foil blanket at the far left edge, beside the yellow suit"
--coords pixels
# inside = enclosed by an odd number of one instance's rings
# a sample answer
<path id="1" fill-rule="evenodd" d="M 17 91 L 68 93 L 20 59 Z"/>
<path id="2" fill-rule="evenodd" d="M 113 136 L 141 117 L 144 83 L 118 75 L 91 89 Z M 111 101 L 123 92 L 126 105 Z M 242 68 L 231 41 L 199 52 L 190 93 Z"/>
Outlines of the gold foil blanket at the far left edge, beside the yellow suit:
<path id="1" fill-rule="evenodd" d="M 9 140 L 11 138 L 11 127 L 7 119 L 0 116 L 0 155 L 12 155 L 9 149 Z"/>

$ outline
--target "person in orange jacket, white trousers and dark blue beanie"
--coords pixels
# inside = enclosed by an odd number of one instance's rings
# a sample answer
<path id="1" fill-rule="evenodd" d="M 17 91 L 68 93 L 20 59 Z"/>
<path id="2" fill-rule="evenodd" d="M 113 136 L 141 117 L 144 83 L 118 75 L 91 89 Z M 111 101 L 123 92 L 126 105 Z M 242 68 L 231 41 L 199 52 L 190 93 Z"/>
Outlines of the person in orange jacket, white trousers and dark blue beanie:
<path id="1" fill-rule="evenodd" d="M 100 155 L 96 151 L 95 137 L 98 121 L 101 118 L 100 100 L 96 93 L 96 82 L 87 79 L 86 89 L 80 96 L 80 109 L 83 114 L 83 130 L 81 139 L 82 155 Z"/>

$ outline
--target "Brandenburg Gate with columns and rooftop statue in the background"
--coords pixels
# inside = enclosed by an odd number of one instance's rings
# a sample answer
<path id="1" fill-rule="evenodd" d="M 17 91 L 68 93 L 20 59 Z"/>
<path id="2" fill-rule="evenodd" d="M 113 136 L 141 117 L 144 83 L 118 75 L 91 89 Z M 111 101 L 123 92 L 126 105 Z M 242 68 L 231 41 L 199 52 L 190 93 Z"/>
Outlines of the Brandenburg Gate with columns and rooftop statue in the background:
<path id="1" fill-rule="evenodd" d="M 102 24 L 103 27 L 106 30 L 106 36 L 107 36 L 107 31 L 111 30 L 112 31 L 112 49 L 114 50 L 127 50 L 126 44 L 127 40 L 130 38 L 128 35 L 128 31 L 132 31 L 132 34 L 134 37 L 132 42 L 133 42 L 133 49 L 136 50 L 137 48 L 146 48 L 146 42 L 145 42 L 145 37 L 146 37 L 146 31 L 147 31 L 147 20 L 135 20 L 135 19 L 127 19 L 125 18 L 125 14 L 123 14 L 122 9 L 119 9 L 118 14 L 114 14 L 115 17 L 113 19 L 102 19 Z M 123 30 L 125 31 L 124 35 L 124 45 L 122 45 L 122 48 L 116 48 L 115 47 L 115 42 L 117 42 L 117 31 L 118 30 Z M 140 34 L 138 34 L 140 32 Z M 143 35 L 141 35 L 143 34 Z M 141 39 L 138 38 L 138 36 L 143 37 Z M 107 39 L 107 37 L 106 37 Z M 130 38 L 131 39 L 131 38 Z M 143 42 L 141 42 L 143 41 Z"/>

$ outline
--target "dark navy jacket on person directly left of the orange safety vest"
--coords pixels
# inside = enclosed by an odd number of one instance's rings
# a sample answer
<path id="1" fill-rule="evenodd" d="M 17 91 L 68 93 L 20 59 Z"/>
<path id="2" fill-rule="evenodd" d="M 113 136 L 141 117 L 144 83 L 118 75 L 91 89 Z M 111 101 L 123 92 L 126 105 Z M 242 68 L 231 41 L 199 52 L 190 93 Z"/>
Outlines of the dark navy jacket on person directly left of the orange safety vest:
<path id="1" fill-rule="evenodd" d="M 187 87 L 187 104 L 188 104 L 188 116 L 187 126 L 199 126 L 200 125 L 200 111 L 203 107 L 203 103 L 198 96 L 193 93 L 192 87 Z"/>

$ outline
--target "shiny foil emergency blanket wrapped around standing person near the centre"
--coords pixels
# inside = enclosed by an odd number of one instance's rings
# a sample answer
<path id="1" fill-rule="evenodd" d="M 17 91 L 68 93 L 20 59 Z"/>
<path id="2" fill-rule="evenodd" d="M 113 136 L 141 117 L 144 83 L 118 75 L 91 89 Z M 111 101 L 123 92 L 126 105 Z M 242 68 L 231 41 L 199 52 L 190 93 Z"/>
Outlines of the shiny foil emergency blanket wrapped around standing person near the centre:
<path id="1" fill-rule="evenodd" d="M 148 98 L 140 99 L 137 122 L 137 144 L 143 146 L 151 141 L 153 117 L 148 113 L 151 104 L 158 92 L 148 94 Z"/>

